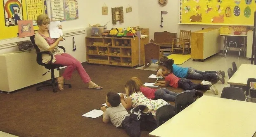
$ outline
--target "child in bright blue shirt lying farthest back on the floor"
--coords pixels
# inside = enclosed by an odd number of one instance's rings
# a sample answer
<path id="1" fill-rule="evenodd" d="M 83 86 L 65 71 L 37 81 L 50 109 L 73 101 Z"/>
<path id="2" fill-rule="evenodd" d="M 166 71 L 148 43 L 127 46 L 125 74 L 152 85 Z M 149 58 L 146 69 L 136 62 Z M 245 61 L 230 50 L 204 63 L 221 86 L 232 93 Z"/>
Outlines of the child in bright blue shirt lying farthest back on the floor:
<path id="1" fill-rule="evenodd" d="M 159 59 L 158 65 L 161 67 L 168 60 L 168 57 L 163 56 Z M 187 78 L 195 80 L 220 80 L 222 84 L 225 83 L 225 72 L 224 71 L 198 71 L 194 68 L 183 68 L 176 64 L 173 64 L 173 74 L 178 78 Z M 157 76 L 165 76 L 162 74 L 162 71 L 156 73 Z"/>

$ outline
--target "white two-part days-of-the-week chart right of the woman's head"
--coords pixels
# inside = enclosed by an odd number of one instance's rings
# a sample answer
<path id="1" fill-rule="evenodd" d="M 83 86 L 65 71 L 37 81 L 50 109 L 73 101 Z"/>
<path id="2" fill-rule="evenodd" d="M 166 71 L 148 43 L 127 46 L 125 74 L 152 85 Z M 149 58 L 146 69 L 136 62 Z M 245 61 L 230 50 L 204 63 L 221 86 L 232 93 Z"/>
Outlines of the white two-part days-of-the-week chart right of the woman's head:
<path id="1" fill-rule="evenodd" d="M 78 19 L 77 0 L 51 0 L 52 21 L 70 21 Z"/>

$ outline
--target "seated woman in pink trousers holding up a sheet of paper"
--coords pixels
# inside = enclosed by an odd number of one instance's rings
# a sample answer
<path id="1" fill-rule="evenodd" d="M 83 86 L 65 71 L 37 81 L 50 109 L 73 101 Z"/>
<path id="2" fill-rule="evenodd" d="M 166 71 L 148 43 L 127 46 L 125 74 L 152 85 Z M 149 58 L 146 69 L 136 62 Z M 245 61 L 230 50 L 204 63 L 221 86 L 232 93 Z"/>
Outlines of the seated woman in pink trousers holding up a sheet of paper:
<path id="1" fill-rule="evenodd" d="M 37 17 L 36 23 L 39 27 L 38 33 L 35 35 L 35 43 L 40 49 L 40 51 L 50 51 L 53 54 L 52 62 L 50 62 L 51 56 L 48 54 L 43 54 L 42 59 L 43 63 L 52 63 L 52 64 L 60 64 L 63 66 L 67 66 L 62 76 L 57 78 L 59 90 L 64 89 L 64 80 L 69 80 L 73 71 L 76 69 L 82 78 L 84 83 L 88 83 L 89 89 L 102 89 L 102 87 L 98 86 L 90 79 L 89 75 L 86 73 L 83 68 L 81 62 L 72 57 L 71 55 L 64 53 L 64 51 L 58 47 L 59 41 L 63 41 L 63 37 L 59 37 L 58 39 L 51 39 L 48 25 L 50 24 L 50 18 L 41 14 Z M 62 29 L 62 26 L 59 25 L 59 29 Z"/>

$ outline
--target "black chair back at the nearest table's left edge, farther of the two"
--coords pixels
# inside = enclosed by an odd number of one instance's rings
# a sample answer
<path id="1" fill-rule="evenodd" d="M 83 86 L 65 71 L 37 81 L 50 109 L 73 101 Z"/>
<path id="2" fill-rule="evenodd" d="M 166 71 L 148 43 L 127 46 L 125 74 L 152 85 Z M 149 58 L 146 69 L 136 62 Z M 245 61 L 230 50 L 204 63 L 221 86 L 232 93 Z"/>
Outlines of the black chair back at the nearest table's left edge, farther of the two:
<path id="1" fill-rule="evenodd" d="M 178 114 L 184 110 L 187 106 L 195 101 L 190 91 L 185 91 L 176 95 L 175 99 L 175 112 Z"/>

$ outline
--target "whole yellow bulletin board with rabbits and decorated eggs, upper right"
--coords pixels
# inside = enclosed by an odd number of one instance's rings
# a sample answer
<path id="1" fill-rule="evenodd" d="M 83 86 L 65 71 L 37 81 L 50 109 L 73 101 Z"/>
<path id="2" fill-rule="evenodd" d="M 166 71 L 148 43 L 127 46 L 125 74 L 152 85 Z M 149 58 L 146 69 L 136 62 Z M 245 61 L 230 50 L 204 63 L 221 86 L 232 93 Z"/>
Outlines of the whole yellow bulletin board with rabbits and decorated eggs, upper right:
<path id="1" fill-rule="evenodd" d="M 256 0 L 180 0 L 180 24 L 254 25 Z"/>

